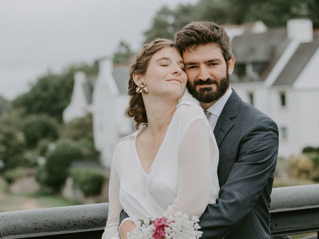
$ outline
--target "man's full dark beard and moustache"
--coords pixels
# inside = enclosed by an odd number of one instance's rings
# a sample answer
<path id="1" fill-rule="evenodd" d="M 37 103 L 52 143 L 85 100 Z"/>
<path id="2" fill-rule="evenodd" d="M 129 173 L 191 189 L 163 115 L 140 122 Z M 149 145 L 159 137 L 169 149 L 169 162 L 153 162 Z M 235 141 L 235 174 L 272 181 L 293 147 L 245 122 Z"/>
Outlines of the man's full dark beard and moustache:
<path id="1" fill-rule="evenodd" d="M 201 87 L 199 90 L 196 90 L 197 85 L 204 84 L 215 84 L 216 90 L 214 91 L 210 86 Z M 202 103 L 211 103 L 217 101 L 227 91 L 229 87 L 229 74 L 228 71 L 226 71 L 226 76 L 221 78 L 219 82 L 208 78 L 205 81 L 197 80 L 194 82 L 194 85 L 187 82 L 186 86 L 189 94 L 191 94 L 197 101 Z"/>

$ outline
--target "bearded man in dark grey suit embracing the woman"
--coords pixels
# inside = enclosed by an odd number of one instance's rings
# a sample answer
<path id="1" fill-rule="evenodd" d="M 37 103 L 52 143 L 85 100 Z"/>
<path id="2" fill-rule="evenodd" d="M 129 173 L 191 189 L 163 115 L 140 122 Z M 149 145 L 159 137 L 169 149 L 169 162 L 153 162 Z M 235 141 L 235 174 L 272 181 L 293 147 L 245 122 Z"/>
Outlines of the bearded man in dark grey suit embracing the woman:
<path id="1" fill-rule="evenodd" d="M 219 197 L 200 218 L 201 239 L 270 239 L 277 125 L 229 87 L 235 60 L 224 28 L 192 22 L 175 34 L 175 42 L 184 59 L 188 92 L 205 110 L 219 148 Z M 122 212 L 121 221 L 125 217 Z M 121 224 L 121 237 L 132 228 L 130 221 Z"/>

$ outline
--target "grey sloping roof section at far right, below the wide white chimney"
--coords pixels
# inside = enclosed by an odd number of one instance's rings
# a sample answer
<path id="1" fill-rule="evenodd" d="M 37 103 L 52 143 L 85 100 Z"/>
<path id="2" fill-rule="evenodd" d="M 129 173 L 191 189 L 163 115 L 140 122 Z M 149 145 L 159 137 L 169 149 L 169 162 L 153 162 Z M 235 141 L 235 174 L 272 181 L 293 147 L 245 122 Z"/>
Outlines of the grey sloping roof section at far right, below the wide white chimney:
<path id="1" fill-rule="evenodd" d="M 295 51 L 295 54 L 292 56 L 273 85 L 279 86 L 294 84 L 318 48 L 319 38 L 317 36 L 312 42 L 300 44 L 298 49 Z"/>

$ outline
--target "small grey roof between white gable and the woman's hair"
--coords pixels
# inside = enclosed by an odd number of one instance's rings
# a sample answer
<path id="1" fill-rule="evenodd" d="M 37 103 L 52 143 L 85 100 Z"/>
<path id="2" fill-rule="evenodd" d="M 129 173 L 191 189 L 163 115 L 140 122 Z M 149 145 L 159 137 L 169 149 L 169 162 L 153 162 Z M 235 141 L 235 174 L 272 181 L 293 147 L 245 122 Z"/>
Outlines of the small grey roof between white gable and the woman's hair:
<path id="1" fill-rule="evenodd" d="M 128 65 L 116 64 L 113 66 L 112 75 L 121 95 L 128 93 L 129 71 Z"/>

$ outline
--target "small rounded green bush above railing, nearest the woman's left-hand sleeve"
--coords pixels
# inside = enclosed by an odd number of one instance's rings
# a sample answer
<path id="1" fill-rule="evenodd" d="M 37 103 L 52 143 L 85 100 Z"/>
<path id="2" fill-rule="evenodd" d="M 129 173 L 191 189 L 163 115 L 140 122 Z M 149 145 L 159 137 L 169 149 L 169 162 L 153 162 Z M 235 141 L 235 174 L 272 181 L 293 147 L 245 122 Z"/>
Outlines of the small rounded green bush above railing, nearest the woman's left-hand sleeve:
<path id="1" fill-rule="evenodd" d="M 85 196 L 99 195 L 105 179 L 101 171 L 88 168 L 73 169 L 71 177 L 74 185 L 79 187 Z"/>

